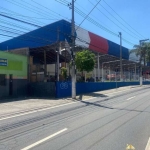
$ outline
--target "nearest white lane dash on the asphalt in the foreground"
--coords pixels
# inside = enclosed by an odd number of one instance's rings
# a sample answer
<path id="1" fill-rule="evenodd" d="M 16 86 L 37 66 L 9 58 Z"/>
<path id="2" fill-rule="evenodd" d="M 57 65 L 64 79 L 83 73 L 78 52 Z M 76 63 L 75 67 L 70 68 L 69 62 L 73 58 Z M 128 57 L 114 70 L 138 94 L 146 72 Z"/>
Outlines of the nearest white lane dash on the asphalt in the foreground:
<path id="1" fill-rule="evenodd" d="M 33 148 L 33 147 L 35 147 L 35 146 L 37 146 L 37 145 L 39 145 L 39 144 L 41 144 L 41 143 L 43 143 L 43 142 L 45 142 L 45 141 L 47 141 L 47 140 L 53 138 L 54 136 L 56 136 L 56 135 L 58 135 L 58 134 L 61 134 L 62 132 L 66 131 L 66 130 L 68 130 L 68 129 L 67 129 L 67 128 L 64 128 L 64 129 L 62 129 L 62 130 L 60 130 L 60 131 L 58 131 L 58 132 L 56 132 L 56 133 L 54 133 L 54 134 L 52 134 L 52 135 L 46 137 L 46 138 L 44 138 L 44 139 L 42 139 L 42 140 L 40 140 L 40 141 L 37 141 L 37 142 L 35 142 L 35 143 L 33 143 L 33 144 L 31 144 L 31 145 L 29 145 L 29 146 L 27 146 L 27 147 L 25 147 L 25 148 L 23 148 L 23 149 L 21 149 L 21 150 L 29 150 L 29 149 L 31 149 L 31 148 Z"/>

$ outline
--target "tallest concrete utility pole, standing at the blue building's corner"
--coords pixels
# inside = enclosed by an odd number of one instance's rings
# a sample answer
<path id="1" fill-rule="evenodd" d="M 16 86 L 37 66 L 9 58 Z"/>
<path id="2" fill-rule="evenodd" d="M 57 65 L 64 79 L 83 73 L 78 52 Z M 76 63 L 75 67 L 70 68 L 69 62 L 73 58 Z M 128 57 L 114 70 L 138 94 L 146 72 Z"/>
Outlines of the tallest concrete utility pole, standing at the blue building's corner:
<path id="1" fill-rule="evenodd" d="M 72 98 L 76 99 L 76 77 L 75 77 L 75 25 L 74 25 L 74 0 L 72 0 Z"/>

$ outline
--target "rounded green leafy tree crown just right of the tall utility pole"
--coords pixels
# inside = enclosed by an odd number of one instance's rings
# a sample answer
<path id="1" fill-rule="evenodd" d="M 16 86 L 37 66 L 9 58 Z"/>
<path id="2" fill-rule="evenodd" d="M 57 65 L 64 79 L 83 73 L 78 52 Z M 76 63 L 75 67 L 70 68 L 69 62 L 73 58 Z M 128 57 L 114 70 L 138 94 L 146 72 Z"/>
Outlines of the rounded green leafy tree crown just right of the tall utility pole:
<path id="1" fill-rule="evenodd" d="M 75 64 L 78 71 L 90 72 L 94 69 L 95 55 L 88 50 L 77 52 L 75 57 Z"/>

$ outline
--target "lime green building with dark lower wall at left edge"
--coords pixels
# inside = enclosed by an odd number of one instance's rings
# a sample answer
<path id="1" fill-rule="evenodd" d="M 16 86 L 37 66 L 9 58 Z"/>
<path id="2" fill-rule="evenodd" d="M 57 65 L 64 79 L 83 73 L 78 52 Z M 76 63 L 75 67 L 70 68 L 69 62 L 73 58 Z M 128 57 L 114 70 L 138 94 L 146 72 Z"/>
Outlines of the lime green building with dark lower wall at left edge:
<path id="1" fill-rule="evenodd" d="M 0 98 L 27 96 L 27 57 L 0 51 Z"/>

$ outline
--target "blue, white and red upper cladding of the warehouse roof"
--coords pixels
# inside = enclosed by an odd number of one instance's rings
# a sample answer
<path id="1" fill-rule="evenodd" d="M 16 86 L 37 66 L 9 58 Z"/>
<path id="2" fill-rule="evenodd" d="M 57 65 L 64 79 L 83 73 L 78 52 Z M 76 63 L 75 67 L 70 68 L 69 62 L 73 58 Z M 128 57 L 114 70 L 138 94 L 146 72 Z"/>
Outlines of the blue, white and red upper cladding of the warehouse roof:
<path id="1" fill-rule="evenodd" d="M 76 27 L 77 28 L 77 27 Z M 83 28 L 76 30 L 76 45 L 93 50 L 96 53 L 120 56 L 120 45 L 107 40 Z M 60 20 L 44 27 L 38 28 L 21 36 L 0 43 L 0 49 L 16 49 L 29 47 L 43 47 L 57 41 L 71 42 L 71 23 Z M 129 59 L 129 50 L 122 47 L 122 58 Z"/>

